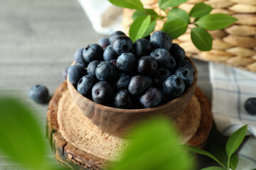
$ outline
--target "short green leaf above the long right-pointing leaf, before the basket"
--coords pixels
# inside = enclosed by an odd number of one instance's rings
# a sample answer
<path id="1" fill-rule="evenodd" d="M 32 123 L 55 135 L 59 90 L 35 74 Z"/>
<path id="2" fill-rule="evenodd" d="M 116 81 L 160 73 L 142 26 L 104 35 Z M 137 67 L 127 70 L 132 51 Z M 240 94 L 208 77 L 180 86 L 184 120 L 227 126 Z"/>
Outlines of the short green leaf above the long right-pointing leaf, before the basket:
<path id="1" fill-rule="evenodd" d="M 193 16 L 193 17 L 206 16 L 207 14 L 210 13 L 210 11 L 212 11 L 212 9 L 213 8 L 211 6 L 208 6 L 204 3 L 199 3 L 199 4 L 196 4 L 195 6 L 193 6 L 189 15 Z"/>

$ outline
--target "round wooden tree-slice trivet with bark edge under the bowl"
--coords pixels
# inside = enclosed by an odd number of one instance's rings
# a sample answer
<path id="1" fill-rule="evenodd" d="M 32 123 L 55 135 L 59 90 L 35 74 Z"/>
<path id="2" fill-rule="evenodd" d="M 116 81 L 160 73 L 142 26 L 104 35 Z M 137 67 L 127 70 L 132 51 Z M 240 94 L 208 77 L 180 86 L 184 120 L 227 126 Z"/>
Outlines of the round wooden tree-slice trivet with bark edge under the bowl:
<path id="1" fill-rule="evenodd" d="M 174 125 L 181 134 L 181 144 L 204 147 L 212 115 L 209 101 L 200 89 L 196 89 Z M 104 169 L 117 162 L 117 152 L 129 145 L 129 140 L 102 132 L 92 124 L 73 102 L 66 82 L 58 87 L 49 103 L 46 127 L 56 159 L 72 169 Z"/>

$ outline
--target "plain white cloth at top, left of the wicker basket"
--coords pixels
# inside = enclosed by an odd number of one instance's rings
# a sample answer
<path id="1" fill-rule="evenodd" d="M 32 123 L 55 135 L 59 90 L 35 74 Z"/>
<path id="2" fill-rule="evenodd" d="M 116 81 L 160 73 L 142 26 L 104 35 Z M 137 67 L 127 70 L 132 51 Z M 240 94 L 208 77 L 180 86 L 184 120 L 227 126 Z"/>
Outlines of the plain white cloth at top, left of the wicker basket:
<path id="1" fill-rule="evenodd" d="M 93 29 L 100 34 L 110 35 L 122 28 L 122 8 L 107 0 L 78 0 L 87 14 Z"/>

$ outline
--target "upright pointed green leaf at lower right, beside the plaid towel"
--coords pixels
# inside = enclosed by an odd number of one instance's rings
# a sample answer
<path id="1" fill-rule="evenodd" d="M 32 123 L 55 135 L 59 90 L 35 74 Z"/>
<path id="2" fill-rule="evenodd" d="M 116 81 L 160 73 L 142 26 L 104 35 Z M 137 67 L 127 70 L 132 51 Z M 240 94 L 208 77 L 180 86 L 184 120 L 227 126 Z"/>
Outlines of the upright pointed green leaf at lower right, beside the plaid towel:
<path id="1" fill-rule="evenodd" d="M 238 129 L 237 131 L 233 132 L 232 135 L 228 138 L 227 145 L 225 147 L 225 151 L 228 157 L 231 157 L 233 153 L 238 149 L 241 145 L 242 140 L 245 138 L 247 132 L 247 125 L 242 126 L 242 128 Z"/>

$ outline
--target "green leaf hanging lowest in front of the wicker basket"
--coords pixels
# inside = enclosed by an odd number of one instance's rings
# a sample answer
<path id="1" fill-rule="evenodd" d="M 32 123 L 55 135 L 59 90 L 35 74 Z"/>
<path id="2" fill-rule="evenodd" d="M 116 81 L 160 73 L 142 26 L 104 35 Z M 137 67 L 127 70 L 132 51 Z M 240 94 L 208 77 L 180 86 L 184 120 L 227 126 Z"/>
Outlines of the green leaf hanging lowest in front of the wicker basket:
<path id="1" fill-rule="evenodd" d="M 207 30 L 196 27 L 191 30 L 191 40 L 193 44 L 201 51 L 209 51 L 213 46 L 213 38 Z"/>

